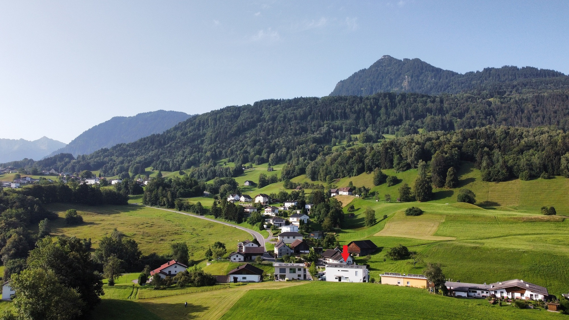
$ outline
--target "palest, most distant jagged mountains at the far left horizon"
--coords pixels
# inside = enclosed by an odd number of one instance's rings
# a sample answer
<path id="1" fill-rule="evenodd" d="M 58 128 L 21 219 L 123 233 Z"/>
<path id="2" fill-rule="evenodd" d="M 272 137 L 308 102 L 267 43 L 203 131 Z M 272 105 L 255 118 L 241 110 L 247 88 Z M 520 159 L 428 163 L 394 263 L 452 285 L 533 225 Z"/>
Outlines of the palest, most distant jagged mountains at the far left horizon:
<path id="1" fill-rule="evenodd" d="M 0 163 L 23 158 L 39 160 L 65 146 L 65 143 L 42 137 L 35 141 L 0 139 Z"/>

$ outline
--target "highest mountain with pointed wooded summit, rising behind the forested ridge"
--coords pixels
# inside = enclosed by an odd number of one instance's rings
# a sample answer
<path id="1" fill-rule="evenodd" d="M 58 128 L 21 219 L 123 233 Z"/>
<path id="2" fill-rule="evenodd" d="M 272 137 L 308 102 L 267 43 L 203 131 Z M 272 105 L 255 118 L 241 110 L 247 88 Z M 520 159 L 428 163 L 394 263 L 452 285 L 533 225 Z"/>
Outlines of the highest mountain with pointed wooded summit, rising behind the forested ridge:
<path id="1" fill-rule="evenodd" d="M 569 89 L 569 76 L 534 67 L 484 68 L 460 74 L 434 67 L 420 59 L 395 59 L 385 55 L 369 68 L 339 81 L 331 96 L 369 96 L 377 92 L 474 93 L 494 95 Z"/>

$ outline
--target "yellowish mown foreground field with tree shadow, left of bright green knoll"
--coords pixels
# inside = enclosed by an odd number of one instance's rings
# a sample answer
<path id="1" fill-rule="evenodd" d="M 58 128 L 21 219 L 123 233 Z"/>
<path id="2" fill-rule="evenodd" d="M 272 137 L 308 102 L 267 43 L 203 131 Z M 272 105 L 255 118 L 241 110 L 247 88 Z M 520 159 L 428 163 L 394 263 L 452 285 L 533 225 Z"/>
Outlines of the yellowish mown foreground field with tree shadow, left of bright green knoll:
<path id="1" fill-rule="evenodd" d="M 249 290 L 265 289 L 269 291 L 263 290 L 263 292 L 271 294 L 274 289 L 306 284 L 308 284 L 306 281 L 270 281 L 242 286 L 230 285 L 230 288 L 226 288 L 226 285 L 218 285 L 215 288 L 203 287 L 158 291 L 140 288 L 138 285 L 121 285 L 114 287 L 105 285 L 105 296 L 102 296 L 101 304 L 96 306 L 93 310 L 91 319 L 219 319 Z M 196 292 L 184 293 L 191 289 L 196 289 Z M 200 289 L 206 291 L 199 292 Z M 133 292 L 137 292 L 138 296 L 144 296 L 147 291 L 172 295 L 140 299 L 136 298 L 137 294 L 133 294 Z M 184 307 L 184 302 L 188 302 L 187 307 Z"/>

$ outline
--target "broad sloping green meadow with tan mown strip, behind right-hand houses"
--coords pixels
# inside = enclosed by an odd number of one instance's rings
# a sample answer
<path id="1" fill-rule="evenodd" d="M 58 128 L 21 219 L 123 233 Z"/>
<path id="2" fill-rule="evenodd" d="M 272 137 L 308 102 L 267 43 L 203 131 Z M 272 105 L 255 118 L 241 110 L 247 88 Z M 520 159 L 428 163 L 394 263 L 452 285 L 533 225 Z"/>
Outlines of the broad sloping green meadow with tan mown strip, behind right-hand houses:
<path id="1" fill-rule="evenodd" d="M 446 277 L 454 280 L 492 283 L 519 278 L 545 286 L 551 294 L 569 292 L 569 219 L 563 216 L 486 210 L 464 203 L 356 199 L 352 204 L 356 216 L 345 220 L 339 241 L 370 239 L 380 248 L 369 260 L 356 258 L 358 264 L 370 265 L 376 279 L 384 272 L 422 273 L 426 262 L 439 262 Z M 401 211 L 410 206 L 425 214 L 404 216 Z M 365 207 L 376 210 L 378 223 L 372 227 L 364 226 Z M 440 224 L 433 233 L 435 222 Z M 422 253 L 423 262 L 414 267 L 410 260 L 387 259 L 389 248 L 398 244 Z"/>

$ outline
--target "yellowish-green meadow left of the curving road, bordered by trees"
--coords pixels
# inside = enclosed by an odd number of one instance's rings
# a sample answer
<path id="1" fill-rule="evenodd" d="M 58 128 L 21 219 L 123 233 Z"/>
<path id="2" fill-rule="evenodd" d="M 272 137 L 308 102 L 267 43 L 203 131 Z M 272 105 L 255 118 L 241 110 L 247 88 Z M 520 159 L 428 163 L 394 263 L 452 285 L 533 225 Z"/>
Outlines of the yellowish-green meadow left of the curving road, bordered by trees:
<path id="1" fill-rule="evenodd" d="M 94 248 L 97 241 L 109 236 L 114 228 L 136 240 L 143 254 L 169 253 L 171 243 L 185 242 L 191 259 L 196 261 L 205 259 L 205 251 L 215 241 L 225 243 L 230 251 L 238 241 L 253 239 L 250 233 L 237 228 L 134 204 L 89 207 L 56 203 L 49 204 L 47 208 L 60 216 L 52 224 L 52 235 L 91 238 Z M 65 211 L 70 208 L 83 216 L 83 224 L 65 225 Z"/>

